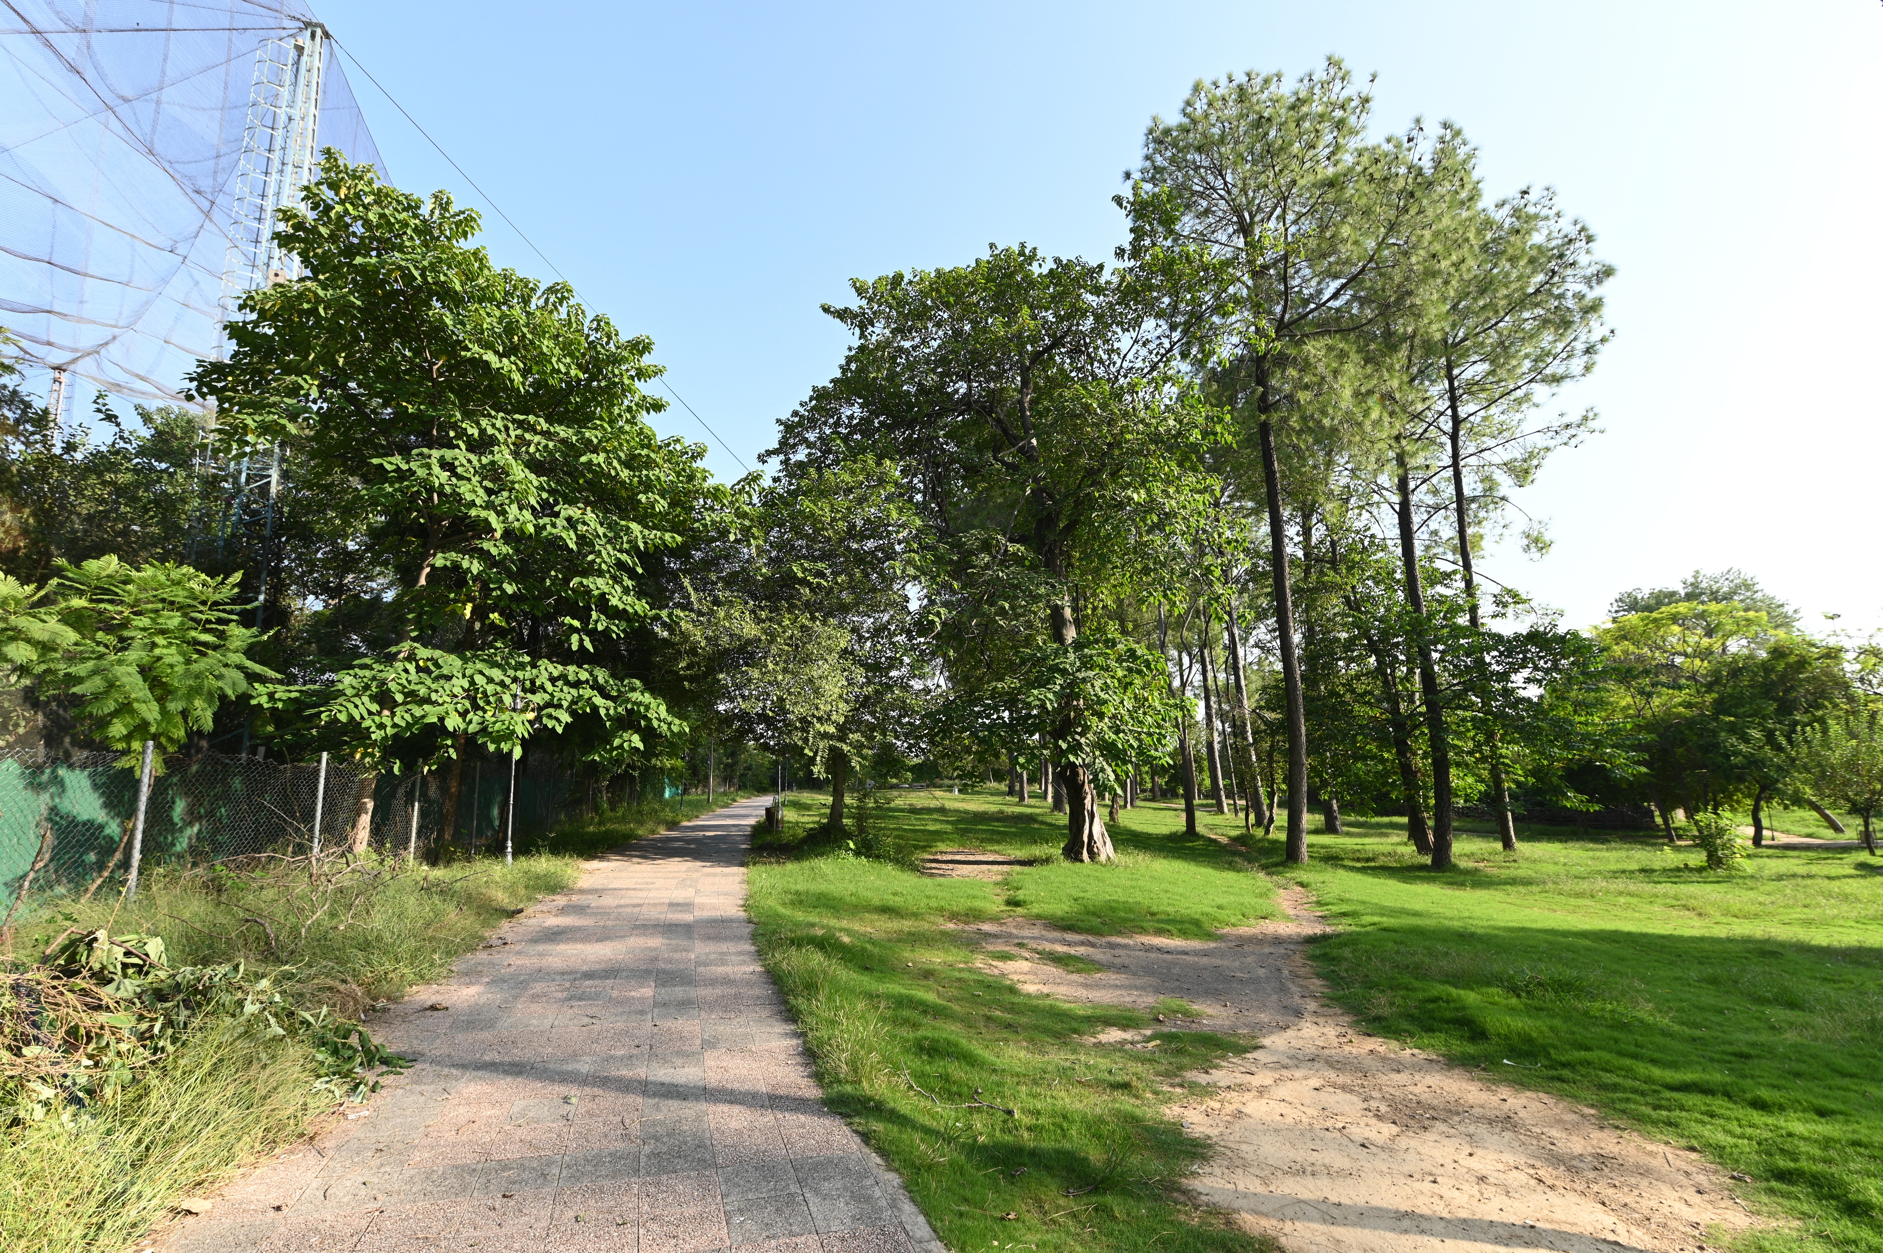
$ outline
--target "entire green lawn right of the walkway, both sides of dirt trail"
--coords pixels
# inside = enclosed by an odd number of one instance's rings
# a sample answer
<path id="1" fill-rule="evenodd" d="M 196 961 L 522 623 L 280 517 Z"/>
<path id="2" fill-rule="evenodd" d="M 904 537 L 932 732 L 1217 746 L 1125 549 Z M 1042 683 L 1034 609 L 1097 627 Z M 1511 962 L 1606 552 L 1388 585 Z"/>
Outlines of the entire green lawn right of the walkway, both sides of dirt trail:
<path id="1" fill-rule="evenodd" d="M 761 846 L 753 869 L 761 952 L 834 1108 L 951 1247 L 1252 1242 L 1173 1198 L 1205 1146 L 1160 1114 L 1184 1068 L 1248 1042 L 1092 1048 L 1081 1036 L 1143 1016 L 1021 995 L 975 968 L 985 950 L 947 923 L 1022 914 L 1205 936 L 1273 914 L 1271 886 L 1299 882 L 1339 927 L 1312 953 L 1371 1031 L 1751 1176 L 1740 1195 L 1794 1221 L 1740 1238 L 1747 1251 L 1883 1253 L 1883 859 L 1772 850 L 1721 874 L 1653 833 L 1525 827 L 1516 854 L 1461 833 L 1459 867 L 1433 874 L 1401 822 L 1350 820 L 1346 835 L 1311 833 L 1312 863 L 1288 869 L 1280 840 L 1256 835 L 1243 861 L 1184 838 L 1181 810 L 1162 805 L 1124 814 L 1120 865 L 1075 867 L 1054 859 L 1062 820 L 989 789 L 891 793 L 885 859 L 862 861 L 800 842 L 821 801 L 789 812 L 783 848 Z M 1241 837 L 1235 818 L 1203 825 Z M 1828 835 L 1808 812 L 1774 825 Z M 940 848 L 1041 865 L 1006 884 L 915 874 Z M 1019 1117 L 942 1108 L 911 1082 L 951 1106 L 979 1089 Z"/>

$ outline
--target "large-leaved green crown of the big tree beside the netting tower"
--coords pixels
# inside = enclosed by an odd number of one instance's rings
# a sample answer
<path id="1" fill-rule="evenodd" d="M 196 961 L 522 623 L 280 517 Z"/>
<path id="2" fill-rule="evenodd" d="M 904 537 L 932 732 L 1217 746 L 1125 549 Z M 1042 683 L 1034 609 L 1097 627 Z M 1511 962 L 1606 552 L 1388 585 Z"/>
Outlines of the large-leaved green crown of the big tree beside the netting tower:
<path id="1" fill-rule="evenodd" d="M 697 448 L 648 428 L 652 343 L 491 266 L 443 192 L 331 151 L 279 222 L 303 277 L 249 292 L 192 384 L 228 448 L 292 447 L 326 511 L 303 526 L 346 537 L 377 584 L 341 654 L 269 705 L 382 763 L 537 727 L 620 763 L 678 731 L 625 644 L 653 614 L 646 561 L 716 492 Z"/>

